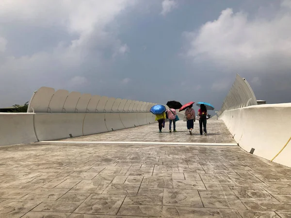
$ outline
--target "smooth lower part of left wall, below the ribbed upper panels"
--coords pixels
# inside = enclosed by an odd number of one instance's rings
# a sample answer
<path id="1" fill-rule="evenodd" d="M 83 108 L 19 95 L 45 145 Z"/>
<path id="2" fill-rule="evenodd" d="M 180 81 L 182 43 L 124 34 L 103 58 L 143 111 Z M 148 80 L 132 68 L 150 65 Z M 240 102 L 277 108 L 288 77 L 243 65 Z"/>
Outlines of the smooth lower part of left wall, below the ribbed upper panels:
<path id="1" fill-rule="evenodd" d="M 0 113 L 0 146 L 85 136 L 155 122 L 152 113 Z"/>

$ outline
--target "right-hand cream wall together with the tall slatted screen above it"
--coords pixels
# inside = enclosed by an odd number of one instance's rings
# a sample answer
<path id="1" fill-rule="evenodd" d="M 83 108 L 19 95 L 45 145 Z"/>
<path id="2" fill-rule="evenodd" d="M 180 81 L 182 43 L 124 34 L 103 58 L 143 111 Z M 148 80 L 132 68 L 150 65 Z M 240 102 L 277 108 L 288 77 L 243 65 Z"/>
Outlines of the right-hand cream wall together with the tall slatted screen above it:
<path id="1" fill-rule="evenodd" d="M 291 103 L 257 105 L 252 88 L 237 75 L 218 115 L 242 149 L 291 167 Z"/>

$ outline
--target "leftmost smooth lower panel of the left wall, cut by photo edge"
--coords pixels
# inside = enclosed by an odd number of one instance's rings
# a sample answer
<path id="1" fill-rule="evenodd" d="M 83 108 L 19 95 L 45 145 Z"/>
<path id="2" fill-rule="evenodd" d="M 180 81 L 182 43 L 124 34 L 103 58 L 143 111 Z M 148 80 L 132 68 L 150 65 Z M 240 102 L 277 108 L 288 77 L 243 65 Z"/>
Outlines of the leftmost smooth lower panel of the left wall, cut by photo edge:
<path id="1" fill-rule="evenodd" d="M 0 146 L 35 141 L 33 113 L 0 113 Z"/>

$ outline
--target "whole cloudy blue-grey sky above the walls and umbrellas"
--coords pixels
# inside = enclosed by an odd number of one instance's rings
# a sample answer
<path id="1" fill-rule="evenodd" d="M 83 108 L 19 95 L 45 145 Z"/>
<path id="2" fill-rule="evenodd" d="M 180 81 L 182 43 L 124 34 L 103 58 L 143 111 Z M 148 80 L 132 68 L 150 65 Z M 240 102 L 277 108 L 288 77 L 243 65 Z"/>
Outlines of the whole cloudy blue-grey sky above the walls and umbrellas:
<path id="1" fill-rule="evenodd" d="M 220 109 L 291 102 L 291 0 L 1 0 L 0 107 L 42 86 Z"/>

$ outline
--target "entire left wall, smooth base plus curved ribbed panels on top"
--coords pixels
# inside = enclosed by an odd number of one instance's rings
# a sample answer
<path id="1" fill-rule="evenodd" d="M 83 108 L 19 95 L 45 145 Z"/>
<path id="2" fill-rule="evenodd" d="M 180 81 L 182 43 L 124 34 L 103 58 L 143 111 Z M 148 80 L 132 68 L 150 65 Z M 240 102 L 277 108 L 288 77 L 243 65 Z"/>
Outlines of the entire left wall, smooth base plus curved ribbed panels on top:
<path id="1" fill-rule="evenodd" d="M 155 104 L 41 87 L 28 113 L 0 113 L 0 145 L 56 140 L 155 123 Z M 34 112 L 34 113 L 29 113 Z"/>

